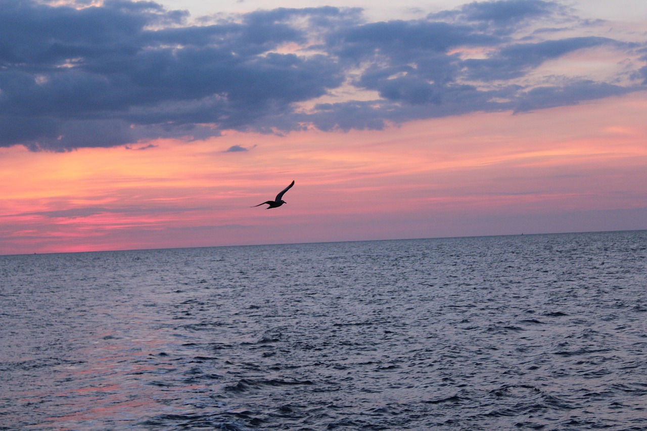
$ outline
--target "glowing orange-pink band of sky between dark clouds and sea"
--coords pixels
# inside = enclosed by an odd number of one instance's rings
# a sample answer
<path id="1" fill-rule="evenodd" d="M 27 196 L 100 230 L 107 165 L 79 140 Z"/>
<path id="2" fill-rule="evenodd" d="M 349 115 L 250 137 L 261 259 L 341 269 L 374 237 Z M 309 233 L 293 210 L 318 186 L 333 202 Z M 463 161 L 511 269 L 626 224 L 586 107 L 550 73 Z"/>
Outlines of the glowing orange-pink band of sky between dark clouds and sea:
<path id="1" fill-rule="evenodd" d="M 547 220 L 644 211 L 646 107 L 642 92 L 383 131 L 4 148 L 0 254 L 576 230 Z M 250 208 L 292 179 L 285 206 Z M 631 223 L 600 226 L 647 228 Z"/>

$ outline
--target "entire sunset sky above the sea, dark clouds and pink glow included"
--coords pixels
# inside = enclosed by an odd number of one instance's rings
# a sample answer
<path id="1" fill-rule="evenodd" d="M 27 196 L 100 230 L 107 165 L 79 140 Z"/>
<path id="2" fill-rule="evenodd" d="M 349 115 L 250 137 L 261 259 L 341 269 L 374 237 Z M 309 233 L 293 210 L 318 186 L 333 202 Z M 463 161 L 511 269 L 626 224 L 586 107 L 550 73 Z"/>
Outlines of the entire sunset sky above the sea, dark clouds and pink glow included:
<path id="1" fill-rule="evenodd" d="M 0 0 L 0 254 L 645 229 L 610 4 Z"/>

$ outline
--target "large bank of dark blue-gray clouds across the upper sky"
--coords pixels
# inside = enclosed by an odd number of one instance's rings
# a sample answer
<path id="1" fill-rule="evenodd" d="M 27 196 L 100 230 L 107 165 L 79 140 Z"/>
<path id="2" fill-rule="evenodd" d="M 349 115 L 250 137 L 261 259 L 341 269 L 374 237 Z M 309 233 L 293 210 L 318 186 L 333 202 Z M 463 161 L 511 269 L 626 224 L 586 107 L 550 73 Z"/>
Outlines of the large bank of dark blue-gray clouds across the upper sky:
<path id="1" fill-rule="evenodd" d="M 367 23 L 356 8 L 322 7 L 258 10 L 197 25 L 186 12 L 152 1 L 74 8 L 0 0 L 0 146 L 67 151 L 201 139 L 226 129 L 380 129 L 644 88 L 644 64 L 631 74 L 631 86 L 577 77 L 552 86 L 519 83 L 545 61 L 576 50 L 644 47 L 645 41 L 560 39 L 558 29 L 533 32 L 532 23 L 535 30 L 551 28 L 558 16 L 564 25 L 563 12 L 553 1 L 498 0 L 410 21 Z M 551 39 L 537 39 L 541 34 Z M 488 54 L 466 58 L 461 50 Z M 379 98 L 300 109 L 300 102 L 344 83 Z"/>

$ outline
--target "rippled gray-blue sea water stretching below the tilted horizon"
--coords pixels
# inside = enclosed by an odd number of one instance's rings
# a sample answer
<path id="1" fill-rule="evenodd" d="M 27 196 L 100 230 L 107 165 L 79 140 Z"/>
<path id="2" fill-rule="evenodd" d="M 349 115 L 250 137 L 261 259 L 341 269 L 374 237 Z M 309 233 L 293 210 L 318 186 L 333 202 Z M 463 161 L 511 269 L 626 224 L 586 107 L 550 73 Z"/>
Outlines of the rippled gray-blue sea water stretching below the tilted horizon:
<path id="1" fill-rule="evenodd" d="M 0 429 L 647 430 L 647 231 L 0 256 Z"/>

